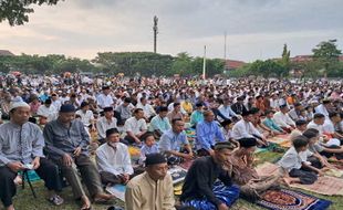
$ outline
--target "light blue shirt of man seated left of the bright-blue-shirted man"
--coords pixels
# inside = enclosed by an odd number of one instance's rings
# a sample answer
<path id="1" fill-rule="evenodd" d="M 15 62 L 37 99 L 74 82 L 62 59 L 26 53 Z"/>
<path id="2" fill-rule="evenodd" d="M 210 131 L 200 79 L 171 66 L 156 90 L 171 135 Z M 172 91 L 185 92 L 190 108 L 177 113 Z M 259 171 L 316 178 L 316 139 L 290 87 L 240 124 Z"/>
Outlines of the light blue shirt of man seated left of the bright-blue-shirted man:
<path id="1" fill-rule="evenodd" d="M 180 151 L 183 145 L 189 145 L 186 133 L 176 134 L 173 129 L 165 132 L 159 139 L 160 151 Z"/>

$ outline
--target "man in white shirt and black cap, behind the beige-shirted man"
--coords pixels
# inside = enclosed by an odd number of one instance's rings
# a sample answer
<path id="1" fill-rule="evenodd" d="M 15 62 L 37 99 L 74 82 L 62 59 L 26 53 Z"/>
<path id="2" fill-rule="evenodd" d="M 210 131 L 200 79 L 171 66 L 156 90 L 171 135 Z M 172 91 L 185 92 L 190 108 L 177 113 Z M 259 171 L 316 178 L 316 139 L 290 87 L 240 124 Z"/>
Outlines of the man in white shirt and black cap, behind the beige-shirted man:
<path id="1" fill-rule="evenodd" d="M 96 164 L 104 185 L 126 183 L 134 174 L 127 146 L 116 128 L 106 130 L 106 141 L 96 149 Z"/>

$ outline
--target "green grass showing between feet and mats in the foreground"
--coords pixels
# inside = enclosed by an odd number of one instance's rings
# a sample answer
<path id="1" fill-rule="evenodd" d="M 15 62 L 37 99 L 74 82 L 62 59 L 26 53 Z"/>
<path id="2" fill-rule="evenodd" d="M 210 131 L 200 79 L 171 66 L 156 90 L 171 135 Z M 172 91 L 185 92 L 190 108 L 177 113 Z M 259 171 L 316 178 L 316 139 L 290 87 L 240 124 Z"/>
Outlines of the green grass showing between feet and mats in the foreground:
<path id="1" fill-rule="evenodd" d="M 257 164 L 263 162 L 263 161 L 277 161 L 282 154 L 277 154 L 277 153 L 260 153 L 257 155 L 258 161 Z M 80 203 L 73 199 L 71 188 L 64 188 L 62 192 L 62 197 L 65 200 L 65 203 L 62 204 L 61 207 L 54 207 L 52 206 L 49 201 L 45 200 L 45 188 L 43 187 L 42 181 L 37 181 L 34 182 L 34 189 L 35 192 L 38 193 L 38 199 L 34 199 L 33 196 L 31 195 L 30 188 L 27 185 L 27 188 L 22 190 L 21 188 L 18 188 L 18 193 L 14 197 L 14 204 L 17 210 L 77 210 L 80 208 Z M 303 191 L 303 190 L 300 190 Z M 311 193 L 303 191 L 309 195 L 313 195 L 315 197 L 331 200 L 333 204 L 331 206 L 331 210 L 342 210 L 343 209 L 343 198 L 342 197 L 328 197 L 328 196 L 321 196 L 316 193 Z M 116 204 L 118 207 L 124 207 L 124 203 L 121 202 L 119 200 L 113 201 L 112 203 L 108 204 L 94 204 L 93 209 L 94 210 L 106 210 L 107 207 L 111 204 Z M 242 199 L 239 199 L 236 204 L 230 208 L 235 210 L 260 210 L 263 208 L 260 208 L 253 203 L 249 203 Z"/>

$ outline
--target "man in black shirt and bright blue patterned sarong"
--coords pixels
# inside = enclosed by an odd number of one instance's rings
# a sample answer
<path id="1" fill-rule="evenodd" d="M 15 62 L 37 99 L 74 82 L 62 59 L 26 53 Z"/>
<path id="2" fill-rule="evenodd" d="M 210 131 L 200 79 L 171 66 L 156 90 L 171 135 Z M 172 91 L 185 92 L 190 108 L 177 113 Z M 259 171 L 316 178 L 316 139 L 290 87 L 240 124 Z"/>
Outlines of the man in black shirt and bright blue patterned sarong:
<path id="1" fill-rule="evenodd" d="M 184 206 L 198 210 L 228 210 L 239 196 L 239 188 L 232 186 L 232 164 L 230 156 L 233 146 L 230 143 L 217 143 L 212 156 L 196 159 L 189 168 L 180 200 Z M 214 188 L 219 179 L 225 183 Z M 220 198 L 220 199 L 219 199 Z M 225 200 L 225 201 L 224 201 Z"/>

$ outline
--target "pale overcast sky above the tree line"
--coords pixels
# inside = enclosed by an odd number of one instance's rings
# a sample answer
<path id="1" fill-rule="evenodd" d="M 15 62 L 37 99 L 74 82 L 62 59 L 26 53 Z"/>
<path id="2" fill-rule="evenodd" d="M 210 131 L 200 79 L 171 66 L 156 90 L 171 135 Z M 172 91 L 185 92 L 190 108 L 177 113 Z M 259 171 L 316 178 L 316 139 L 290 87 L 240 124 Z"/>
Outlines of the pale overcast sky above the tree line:
<path id="1" fill-rule="evenodd" d="M 21 27 L 0 23 L 0 49 L 15 54 L 66 54 L 84 59 L 97 52 L 188 52 L 242 61 L 278 57 L 284 43 L 291 56 L 310 54 L 321 41 L 337 39 L 343 50 L 342 0 L 65 0 L 35 7 Z"/>

